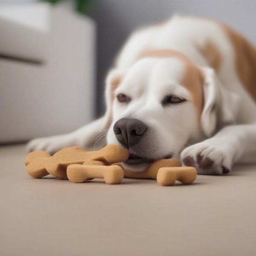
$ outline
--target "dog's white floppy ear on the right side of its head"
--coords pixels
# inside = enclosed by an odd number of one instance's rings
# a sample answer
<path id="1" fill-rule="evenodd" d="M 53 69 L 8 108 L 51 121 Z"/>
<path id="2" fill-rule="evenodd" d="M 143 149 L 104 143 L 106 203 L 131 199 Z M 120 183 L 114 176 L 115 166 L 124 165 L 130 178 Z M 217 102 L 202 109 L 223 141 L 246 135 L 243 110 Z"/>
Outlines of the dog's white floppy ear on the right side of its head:
<path id="1" fill-rule="evenodd" d="M 235 122 L 239 96 L 223 87 L 213 69 L 203 67 L 201 70 L 204 76 L 201 127 L 204 134 L 210 137 L 217 127 Z"/>

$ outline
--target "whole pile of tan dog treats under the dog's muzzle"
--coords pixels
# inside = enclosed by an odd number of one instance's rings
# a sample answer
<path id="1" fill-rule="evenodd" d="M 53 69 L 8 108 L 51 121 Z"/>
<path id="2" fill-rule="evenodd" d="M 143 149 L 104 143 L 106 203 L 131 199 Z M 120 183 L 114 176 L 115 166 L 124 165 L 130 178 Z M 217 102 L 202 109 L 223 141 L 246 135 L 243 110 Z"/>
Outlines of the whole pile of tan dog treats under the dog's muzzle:
<path id="1" fill-rule="evenodd" d="M 163 159 L 152 163 L 143 172 L 123 169 L 122 162 L 129 157 L 129 151 L 116 144 L 105 146 L 99 151 L 85 151 L 80 147 L 68 147 L 53 156 L 43 150 L 33 151 L 25 159 L 28 174 L 41 178 L 49 174 L 57 179 L 69 179 L 75 183 L 102 178 L 105 183 L 119 184 L 124 177 L 154 179 L 163 186 L 170 186 L 176 180 L 190 184 L 196 179 L 194 167 L 182 167 L 176 159 Z"/>

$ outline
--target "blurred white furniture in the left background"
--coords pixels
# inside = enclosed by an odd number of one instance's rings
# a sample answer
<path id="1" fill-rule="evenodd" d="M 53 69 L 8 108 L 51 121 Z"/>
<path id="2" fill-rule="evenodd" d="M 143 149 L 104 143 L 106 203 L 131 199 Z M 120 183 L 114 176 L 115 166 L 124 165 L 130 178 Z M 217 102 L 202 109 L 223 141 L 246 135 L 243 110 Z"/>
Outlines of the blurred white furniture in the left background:
<path id="1" fill-rule="evenodd" d="M 0 6 L 0 143 L 93 119 L 95 23 L 66 6 Z"/>

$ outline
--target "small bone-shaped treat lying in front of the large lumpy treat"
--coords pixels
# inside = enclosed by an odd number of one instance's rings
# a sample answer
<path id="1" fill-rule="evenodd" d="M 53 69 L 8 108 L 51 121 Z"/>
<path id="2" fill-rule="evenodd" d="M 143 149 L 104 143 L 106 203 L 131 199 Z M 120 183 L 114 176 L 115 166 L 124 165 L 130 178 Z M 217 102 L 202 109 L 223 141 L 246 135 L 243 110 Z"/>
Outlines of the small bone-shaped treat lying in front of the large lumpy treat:
<path id="1" fill-rule="evenodd" d="M 107 184 L 119 184 L 124 177 L 120 166 L 97 166 L 71 164 L 67 166 L 67 177 L 75 183 L 82 183 L 94 178 L 103 178 Z"/>

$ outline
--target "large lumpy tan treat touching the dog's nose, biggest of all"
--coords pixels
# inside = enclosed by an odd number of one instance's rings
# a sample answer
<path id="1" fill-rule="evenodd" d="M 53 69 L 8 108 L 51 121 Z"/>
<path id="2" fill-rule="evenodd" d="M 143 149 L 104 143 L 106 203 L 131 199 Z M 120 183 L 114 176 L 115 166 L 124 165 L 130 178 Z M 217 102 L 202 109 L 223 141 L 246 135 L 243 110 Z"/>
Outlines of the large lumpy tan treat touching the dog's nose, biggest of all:
<path id="1" fill-rule="evenodd" d="M 99 151 L 85 151 L 80 147 L 68 147 L 53 156 L 43 150 L 31 152 L 25 159 L 28 174 L 41 178 L 52 174 L 58 179 L 67 179 L 67 166 L 70 164 L 111 165 L 124 162 L 129 151 L 119 145 L 111 144 Z"/>

